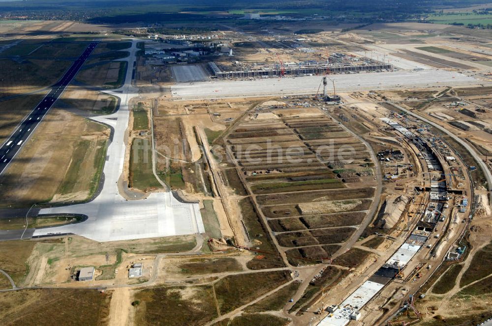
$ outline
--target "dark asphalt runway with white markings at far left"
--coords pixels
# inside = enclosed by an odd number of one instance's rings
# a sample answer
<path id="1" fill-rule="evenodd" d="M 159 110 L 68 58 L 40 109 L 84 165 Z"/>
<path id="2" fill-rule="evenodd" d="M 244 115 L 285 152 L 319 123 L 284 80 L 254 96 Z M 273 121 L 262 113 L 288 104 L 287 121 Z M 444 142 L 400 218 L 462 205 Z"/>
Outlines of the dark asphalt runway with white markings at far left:
<path id="1" fill-rule="evenodd" d="M 15 158 L 22 146 L 34 132 L 44 116 L 51 109 L 53 104 L 62 95 L 65 87 L 77 75 L 80 68 L 94 50 L 97 42 L 92 42 L 77 60 L 68 68 L 63 77 L 51 87 L 50 92 L 39 102 L 39 104 L 24 117 L 24 120 L 17 126 L 12 135 L 0 147 L 0 175 L 7 169 L 8 165 Z"/>

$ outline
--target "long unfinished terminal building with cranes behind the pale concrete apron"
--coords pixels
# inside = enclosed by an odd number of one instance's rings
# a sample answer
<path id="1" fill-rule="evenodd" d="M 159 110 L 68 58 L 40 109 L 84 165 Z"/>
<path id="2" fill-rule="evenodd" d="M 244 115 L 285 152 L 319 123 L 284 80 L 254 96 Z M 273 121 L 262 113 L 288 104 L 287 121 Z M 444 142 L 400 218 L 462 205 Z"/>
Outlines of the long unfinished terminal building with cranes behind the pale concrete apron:
<path id="1" fill-rule="evenodd" d="M 212 78 L 217 79 L 239 79 L 239 78 L 264 78 L 274 76 L 306 76 L 306 75 L 325 75 L 325 74 L 344 74 L 359 72 L 381 72 L 392 71 L 393 66 L 386 63 L 373 64 L 313 64 L 313 65 L 292 65 L 286 67 L 269 67 L 268 69 L 250 69 L 244 71 L 222 71 L 214 62 L 209 62 L 212 70 Z"/>

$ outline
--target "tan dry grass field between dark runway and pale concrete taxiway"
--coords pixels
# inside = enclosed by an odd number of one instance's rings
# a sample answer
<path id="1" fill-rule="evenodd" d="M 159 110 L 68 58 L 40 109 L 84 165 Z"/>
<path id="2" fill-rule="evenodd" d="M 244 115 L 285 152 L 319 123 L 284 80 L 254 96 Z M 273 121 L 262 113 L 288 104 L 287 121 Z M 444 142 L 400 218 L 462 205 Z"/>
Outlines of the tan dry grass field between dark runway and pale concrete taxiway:
<path id="1" fill-rule="evenodd" d="M 2 205 L 86 199 L 97 187 L 108 136 L 100 124 L 52 109 L 1 176 Z"/>

